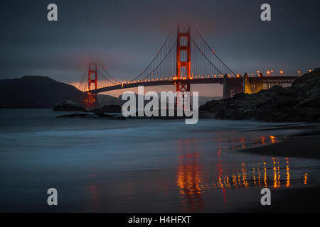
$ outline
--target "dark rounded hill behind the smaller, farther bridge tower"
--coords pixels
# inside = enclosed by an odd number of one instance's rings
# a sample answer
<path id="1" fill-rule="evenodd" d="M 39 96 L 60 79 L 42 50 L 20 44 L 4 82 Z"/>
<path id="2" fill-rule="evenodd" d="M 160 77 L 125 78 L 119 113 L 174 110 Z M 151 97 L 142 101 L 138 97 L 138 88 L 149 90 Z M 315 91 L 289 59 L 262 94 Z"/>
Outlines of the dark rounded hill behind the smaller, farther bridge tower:
<path id="1" fill-rule="evenodd" d="M 82 104 L 83 94 L 77 88 L 49 77 L 25 76 L 0 79 L 0 108 L 42 109 L 53 108 L 65 100 Z M 117 98 L 102 95 L 103 104 L 117 103 Z"/>

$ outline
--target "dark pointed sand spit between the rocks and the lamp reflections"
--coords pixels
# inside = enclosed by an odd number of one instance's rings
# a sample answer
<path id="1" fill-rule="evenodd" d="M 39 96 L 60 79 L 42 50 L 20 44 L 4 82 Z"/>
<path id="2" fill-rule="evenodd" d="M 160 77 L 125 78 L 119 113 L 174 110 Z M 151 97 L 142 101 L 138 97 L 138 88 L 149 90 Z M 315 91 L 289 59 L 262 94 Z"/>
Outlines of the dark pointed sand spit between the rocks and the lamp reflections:
<path id="1" fill-rule="evenodd" d="M 247 148 L 245 149 L 245 152 L 260 155 L 309 157 L 320 159 L 320 135 L 288 138 L 282 142 L 271 145 L 265 145 L 257 148 Z"/>

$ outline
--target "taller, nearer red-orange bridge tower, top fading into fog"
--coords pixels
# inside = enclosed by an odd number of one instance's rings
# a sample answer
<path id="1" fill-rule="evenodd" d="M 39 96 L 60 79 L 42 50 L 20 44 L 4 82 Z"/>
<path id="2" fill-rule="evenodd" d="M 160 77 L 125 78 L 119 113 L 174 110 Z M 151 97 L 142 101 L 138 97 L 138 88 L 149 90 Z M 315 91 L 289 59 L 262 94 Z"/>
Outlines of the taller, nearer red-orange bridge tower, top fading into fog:
<path id="1" fill-rule="evenodd" d="M 176 78 L 178 80 L 183 79 L 181 76 L 181 68 L 186 68 L 186 79 L 191 79 L 191 30 L 190 24 L 187 26 L 187 31 L 181 31 L 180 25 L 177 29 L 177 41 L 176 41 Z M 181 40 L 181 38 L 184 38 Z M 181 52 L 186 52 L 183 55 L 186 59 L 181 60 Z M 190 84 L 183 84 L 183 82 L 176 82 L 177 101 L 183 101 L 183 94 L 180 96 L 179 92 L 190 92 Z"/>

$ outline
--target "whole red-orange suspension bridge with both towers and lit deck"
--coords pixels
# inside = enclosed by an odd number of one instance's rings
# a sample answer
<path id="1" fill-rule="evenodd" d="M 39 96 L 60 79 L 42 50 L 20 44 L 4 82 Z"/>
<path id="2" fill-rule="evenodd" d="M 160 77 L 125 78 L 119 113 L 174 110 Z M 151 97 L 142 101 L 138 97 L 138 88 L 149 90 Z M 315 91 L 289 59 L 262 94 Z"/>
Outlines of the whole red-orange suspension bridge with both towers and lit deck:
<path id="1" fill-rule="evenodd" d="M 82 91 L 86 94 L 88 108 L 95 105 L 98 93 L 117 89 L 175 85 L 176 92 L 190 92 L 191 84 L 223 84 L 223 98 L 228 98 L 241 92 L 256 93 L 275 84 L 291 84 L 298 77 L 235 74 L 210 48 L 201 33 L 188 24 L 178 25 L 176 33 L 171 31 L 149 65 L 130 80 L 116 79 L 100 61 L 90 62 L 85 72 L 87 82 Z"/>

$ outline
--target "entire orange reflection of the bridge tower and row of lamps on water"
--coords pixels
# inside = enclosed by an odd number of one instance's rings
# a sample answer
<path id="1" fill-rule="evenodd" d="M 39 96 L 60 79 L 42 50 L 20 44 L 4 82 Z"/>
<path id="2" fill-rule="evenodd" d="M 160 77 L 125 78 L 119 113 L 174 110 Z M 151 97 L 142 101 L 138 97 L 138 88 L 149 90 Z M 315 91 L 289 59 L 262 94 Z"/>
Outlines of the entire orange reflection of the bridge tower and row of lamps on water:
<path id="1" fill-rule="evenodd" d="M 208 173 L 201 165 L 201 153 L 198 151 L 197 140 L 177 140 L 178 167 L 176 170 L 176 185 L 181 196 L 184 211 L 198 211 L 203 209 L 203 194 L 212 189 L 221 189 L 223 192 L 223 203 L 227 203 L 228 189 L 250 188 L 250 187 L 291 187 L 289 157 L 284 157 L 280 163 L 279 157 L 262 157 L 261 162 L 251 162 L 250 167 L 246 162 L 238 165 L 230 165 L 228 160 L 223 160 L 223 150 L 235 150 L 246 148 L 248 145 L 265 145 L 276 143 L 277 138 L 273 135 L 261 136 L 254 143 L 245 143 L 245 138 L 239 138 L 233 142 L 240 142 L 232 148 L 221 148 L 219 145 L 216 153 L 215 168 L 216 175 Z M 196 152 L 195 152 L 196 151 Z M 228 156 L 228 155 L 227 155 Z M 213 164 L 214 165 L 214 164 Z M 231 173 L 231 174 L 230 174 Z M 211 176 L 210 176 L 211 175 Z M 213 176 L 212 176 L 213 175 Z M 210 179 L 213 177 L 213 179 Z M 306 185 L 308 173 L 304 172 L 301 179 L 294 180 L 296 185 Z"/>

